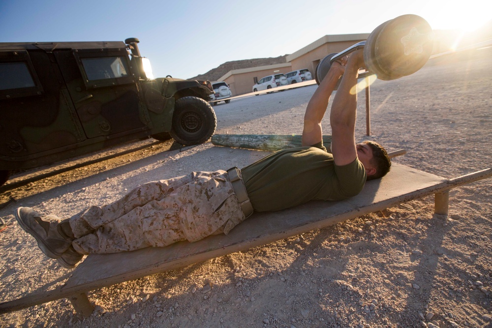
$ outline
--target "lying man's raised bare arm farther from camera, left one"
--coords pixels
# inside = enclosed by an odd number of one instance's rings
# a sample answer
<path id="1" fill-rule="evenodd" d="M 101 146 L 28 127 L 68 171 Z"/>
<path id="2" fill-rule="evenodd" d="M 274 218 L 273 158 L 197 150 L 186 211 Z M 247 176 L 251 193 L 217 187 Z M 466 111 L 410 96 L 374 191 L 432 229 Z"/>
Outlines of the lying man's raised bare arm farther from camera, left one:
<path id="1" fill-rule="evenodd" d="M 303 146 L 311 146 L 319 143 L 323 138 L 321 120 L 323 119 L 330 96 L 337 86 L 338 79 L 343 75 L 346 58 L 340 60 L 342 64 L 334 62 L 330 70 L 314 91 L 309 103 L 307 104 L 306 114 L 304 115 Z"/>

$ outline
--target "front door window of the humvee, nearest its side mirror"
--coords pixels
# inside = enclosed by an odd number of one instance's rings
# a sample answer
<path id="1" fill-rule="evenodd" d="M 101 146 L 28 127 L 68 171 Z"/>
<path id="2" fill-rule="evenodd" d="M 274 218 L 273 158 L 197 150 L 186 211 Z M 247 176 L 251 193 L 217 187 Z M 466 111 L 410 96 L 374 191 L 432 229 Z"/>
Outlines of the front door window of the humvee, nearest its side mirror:
<path id="1" fill-rule="evenodd" d="M 128 69 L 121 57 L 81 58 L 81 61 L 89 81 L 128 76 Z"/>

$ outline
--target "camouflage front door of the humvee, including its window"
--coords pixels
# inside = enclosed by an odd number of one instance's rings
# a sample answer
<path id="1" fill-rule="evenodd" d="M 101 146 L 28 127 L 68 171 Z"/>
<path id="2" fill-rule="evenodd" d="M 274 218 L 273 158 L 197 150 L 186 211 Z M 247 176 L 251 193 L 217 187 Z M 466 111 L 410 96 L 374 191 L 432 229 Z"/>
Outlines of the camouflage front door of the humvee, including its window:
<path id="1" fill-rule="evenodd" d="M 87 138 L 117 137 L 150 122 L 140 102 L 126 48 L 55 52 Z"/>

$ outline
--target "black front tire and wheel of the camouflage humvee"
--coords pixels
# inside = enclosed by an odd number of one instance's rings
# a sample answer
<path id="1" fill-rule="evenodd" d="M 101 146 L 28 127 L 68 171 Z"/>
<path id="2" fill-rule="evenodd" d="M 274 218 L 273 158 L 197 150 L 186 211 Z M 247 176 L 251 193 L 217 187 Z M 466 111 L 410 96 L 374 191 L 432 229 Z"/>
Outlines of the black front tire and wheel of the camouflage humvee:
<path id="1" fill-rule="evenodd" d="M 210 104 L 202 98 L 187 96 L 176 100 L 171 137 L 183 145 L 203 144 L 215 132 L 217 118 Z"/>

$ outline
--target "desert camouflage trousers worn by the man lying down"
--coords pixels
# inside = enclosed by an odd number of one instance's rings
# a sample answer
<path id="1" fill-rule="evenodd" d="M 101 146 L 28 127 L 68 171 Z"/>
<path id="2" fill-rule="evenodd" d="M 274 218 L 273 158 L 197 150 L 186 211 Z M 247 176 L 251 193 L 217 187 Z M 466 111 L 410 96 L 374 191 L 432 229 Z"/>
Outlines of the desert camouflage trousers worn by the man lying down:
<path id="1" fill-rule="evenodd" d="M 216 171 L 145 183 L 68 221 L 77 252 L 103 254 L 227 234 L 244 219 L 227 172 Z"/>

